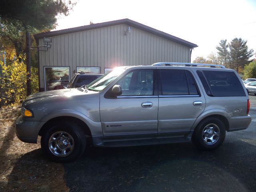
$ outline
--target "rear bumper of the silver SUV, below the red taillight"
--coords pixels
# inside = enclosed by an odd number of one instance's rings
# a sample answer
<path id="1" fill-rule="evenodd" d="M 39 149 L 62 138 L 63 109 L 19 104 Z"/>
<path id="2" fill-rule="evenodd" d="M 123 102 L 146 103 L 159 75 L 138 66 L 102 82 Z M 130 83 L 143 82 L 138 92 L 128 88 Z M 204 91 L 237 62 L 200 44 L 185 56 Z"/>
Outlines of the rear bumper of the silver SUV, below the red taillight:
<path id="1" fill-rule="evenodd" d="M 228 118 L 229 122 L 229 130 L 230 131 L 238 131 L 238 130 L 244 130 L 248 128 L 252 121 L 252 118 L 250 115 L 248 116 L 235 116 Z"/>

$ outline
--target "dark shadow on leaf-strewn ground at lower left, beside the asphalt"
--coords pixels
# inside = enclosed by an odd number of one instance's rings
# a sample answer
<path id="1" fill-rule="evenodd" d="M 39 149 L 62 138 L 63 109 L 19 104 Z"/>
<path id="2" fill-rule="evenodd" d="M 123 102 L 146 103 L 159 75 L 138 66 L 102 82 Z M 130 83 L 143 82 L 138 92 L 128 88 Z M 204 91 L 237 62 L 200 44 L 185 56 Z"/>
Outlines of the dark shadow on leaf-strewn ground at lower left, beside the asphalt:
<path id="1" fill-rule="evenodd" d="M 5 191 L 68 191 L 62 164 L 45 159 L 37 149 L 24 154 L 14 164 Z M 61 187 L 60 187 L 61 186 Z"/>

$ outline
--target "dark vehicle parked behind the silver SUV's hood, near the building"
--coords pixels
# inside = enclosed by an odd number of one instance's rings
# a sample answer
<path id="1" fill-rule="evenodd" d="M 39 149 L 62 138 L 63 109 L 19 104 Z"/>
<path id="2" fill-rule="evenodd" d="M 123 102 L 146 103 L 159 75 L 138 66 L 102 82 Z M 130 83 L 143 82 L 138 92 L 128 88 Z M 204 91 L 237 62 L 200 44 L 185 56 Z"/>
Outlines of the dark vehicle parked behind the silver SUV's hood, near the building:
<path id="1" fill-rule="evenodd" d="M 84 73 L 84 72 L 78 72 L 74 74 L 68 83 L 67 88 L 78 88 L 83 85 L 88 85 L 103 74 L 91 74 L 91 73 Z"/>

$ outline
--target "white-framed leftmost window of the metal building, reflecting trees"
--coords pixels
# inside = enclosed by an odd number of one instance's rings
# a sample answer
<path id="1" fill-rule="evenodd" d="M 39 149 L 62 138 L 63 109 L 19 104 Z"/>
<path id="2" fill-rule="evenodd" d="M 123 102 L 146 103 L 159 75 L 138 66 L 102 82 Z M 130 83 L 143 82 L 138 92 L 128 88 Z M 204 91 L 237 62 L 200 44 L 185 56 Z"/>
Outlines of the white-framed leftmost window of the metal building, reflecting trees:
<path id="1" fill-rule="evenodd" d="M 69 82 L 69 67 L 44 67 L 45 90 L 64 89 Z"/>

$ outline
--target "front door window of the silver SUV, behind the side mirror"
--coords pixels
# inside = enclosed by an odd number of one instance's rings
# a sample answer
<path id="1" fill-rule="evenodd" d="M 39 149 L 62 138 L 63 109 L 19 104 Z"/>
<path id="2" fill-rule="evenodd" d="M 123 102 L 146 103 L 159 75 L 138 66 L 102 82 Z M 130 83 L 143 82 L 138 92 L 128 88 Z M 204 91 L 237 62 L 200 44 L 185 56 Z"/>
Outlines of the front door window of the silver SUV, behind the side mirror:
<path id="1" fill-rule="evenodd" d="M 122 88 L 121 96 L 148 96 L 153 95 L 154 70 L 133 70 L 122 77 L 116 85 Z"/>

